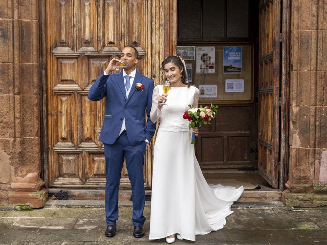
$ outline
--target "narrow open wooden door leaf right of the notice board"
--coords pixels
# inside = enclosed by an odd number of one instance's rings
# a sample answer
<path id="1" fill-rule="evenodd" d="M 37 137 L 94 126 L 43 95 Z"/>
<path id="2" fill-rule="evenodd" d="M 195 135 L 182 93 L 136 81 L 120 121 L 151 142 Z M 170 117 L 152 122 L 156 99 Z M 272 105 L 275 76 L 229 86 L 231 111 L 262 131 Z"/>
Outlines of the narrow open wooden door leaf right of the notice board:
<path id="1" fill-rule="evenodd" d="M 278 188 L 281 1 L 260 0 L 259 11 L 258 169 Z"/>

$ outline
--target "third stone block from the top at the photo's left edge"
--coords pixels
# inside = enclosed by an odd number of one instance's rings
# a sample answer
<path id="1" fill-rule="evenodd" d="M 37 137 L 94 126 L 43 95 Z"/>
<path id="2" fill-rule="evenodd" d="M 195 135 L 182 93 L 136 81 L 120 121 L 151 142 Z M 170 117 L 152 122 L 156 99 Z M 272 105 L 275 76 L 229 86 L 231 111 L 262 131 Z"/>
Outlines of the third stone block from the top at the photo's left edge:
<path id="1" fill-rule="evenodd" d="M 13 94 L 13 64 L 0 63 L 0 94 Z"/>

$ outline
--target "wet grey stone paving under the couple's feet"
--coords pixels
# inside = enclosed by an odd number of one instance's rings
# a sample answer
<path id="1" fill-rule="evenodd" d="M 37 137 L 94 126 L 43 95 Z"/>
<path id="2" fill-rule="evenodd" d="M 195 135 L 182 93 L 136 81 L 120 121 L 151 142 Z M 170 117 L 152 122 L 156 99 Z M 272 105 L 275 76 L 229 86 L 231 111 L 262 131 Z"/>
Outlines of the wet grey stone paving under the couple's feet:
<path id="1" fill-rule="evenodd" d="M 196 236 L 196 244 L 327 244 L 327 208 L 233 207 L 224 229 Z M 119 208 L 117 235 L 104 236 L 103 207 L 46 207 L 0 211 L 0 245 L 142 245 L 149 241 L 150 208 L 145 208 L 145 237 L 132 236 L 132 208 Z M 193 244 L 176 240 L 174 244 Z"/>

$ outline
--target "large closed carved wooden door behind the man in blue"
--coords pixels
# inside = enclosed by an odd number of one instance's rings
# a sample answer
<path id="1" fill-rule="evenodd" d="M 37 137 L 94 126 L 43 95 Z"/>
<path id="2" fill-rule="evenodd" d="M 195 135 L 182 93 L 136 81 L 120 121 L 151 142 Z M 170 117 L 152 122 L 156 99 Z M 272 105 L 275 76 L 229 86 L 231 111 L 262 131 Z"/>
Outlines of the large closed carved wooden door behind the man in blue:
<path id="1" fill-rule="evenodd" d="M 160 40 L 164 39 L 161 23 L 165 5 L 150 0 L 51 0 L 45 4 L 48 47 L 45 179 L 49 187 L 103 188 L 105 158 L 98 138 L 105 99 L 88 100 L 88 90 L 109 60 L 129 44 L 137 46 L 143 57 L 138 71 L 155 78 L 164 56 Z M 148 52 L 150 55 L 146 55 Z M 151 52 L 156 56 L 151 57 Z M 144 164 L 146 187 L 151 186 L 151 150 L 148 148 Z M 129 186 L 124 164 L 121 187 Z"/>

